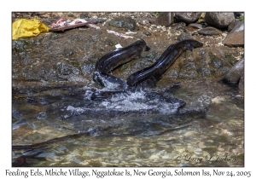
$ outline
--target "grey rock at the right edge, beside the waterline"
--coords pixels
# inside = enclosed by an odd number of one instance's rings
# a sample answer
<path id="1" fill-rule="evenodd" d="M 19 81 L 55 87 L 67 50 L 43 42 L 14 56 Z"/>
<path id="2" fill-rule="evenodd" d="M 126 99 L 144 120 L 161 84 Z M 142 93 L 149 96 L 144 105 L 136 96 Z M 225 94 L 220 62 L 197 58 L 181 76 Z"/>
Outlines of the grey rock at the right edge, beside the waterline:
<path id="1" fill-rule="evenodd" d="M 230 71 L 224 76 L 222 81 L 231 83 L 231 84 L 237 84 L 243 72 L 244 72 L 244 58 L 238 61 L 236 65 L 230 69 Z"/>

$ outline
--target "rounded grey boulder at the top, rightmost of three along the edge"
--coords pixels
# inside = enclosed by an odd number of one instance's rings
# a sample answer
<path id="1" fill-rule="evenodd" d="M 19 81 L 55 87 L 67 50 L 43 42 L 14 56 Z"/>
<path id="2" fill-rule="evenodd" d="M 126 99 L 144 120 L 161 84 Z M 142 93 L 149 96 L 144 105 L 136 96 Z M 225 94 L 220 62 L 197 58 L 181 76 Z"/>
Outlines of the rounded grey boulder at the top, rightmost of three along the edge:
<path id="1" fill-rule="evenodd" d="M 235 20 L 234 13 L 210 13 L 207 12 L 205 16 L 205 20 L 208 25 L 217 27 L 217 28 L 224 28 L 230 25 L 230 22 Z"/>

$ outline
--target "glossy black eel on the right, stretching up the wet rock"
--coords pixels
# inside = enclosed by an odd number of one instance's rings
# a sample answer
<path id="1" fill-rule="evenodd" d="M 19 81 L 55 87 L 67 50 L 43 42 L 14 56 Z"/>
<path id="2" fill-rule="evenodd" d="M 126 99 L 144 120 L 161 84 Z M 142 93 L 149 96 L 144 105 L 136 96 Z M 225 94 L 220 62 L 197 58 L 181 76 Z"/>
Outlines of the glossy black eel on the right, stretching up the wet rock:
<path id="1" fill-rule="evenodd" d="M 161 75 L 172 66 L 183 51 L 186 51 L 187 49 L 192 50 L 202 46 L 202 43 L 192 39 L 171 44 L 152 66 L 148 66 L 143 70 L 131 74 L 126 79 L 126 84 L 128 84 L 128 86 L 136 86 L 147 78 L 160 79 Z"/>

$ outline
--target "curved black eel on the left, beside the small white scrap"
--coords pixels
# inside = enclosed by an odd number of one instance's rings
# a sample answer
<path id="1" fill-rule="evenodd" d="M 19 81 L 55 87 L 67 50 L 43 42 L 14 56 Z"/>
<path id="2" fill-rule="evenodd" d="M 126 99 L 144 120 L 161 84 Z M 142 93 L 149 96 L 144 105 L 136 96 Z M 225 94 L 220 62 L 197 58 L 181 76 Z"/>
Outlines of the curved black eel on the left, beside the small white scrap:
<path id="1" fill-rule="evenodd" d="M 150 48 L 146 45 L 146 42 L 141 39 L 135 43 L 128 45 L 124 48 L 114 49 L 103 55 L 102 58 L 96 62 L 96 72 L 93 73 L 93 80 L 97 84 L 102 86 L 108 86 L 114 84 L 114 88 L 125 88 L 125 82 L 113 75 L 109 74 L 114 68 L 133 60 L 136 56 L 140 55 L 144 50 L 148 51 Z"/>

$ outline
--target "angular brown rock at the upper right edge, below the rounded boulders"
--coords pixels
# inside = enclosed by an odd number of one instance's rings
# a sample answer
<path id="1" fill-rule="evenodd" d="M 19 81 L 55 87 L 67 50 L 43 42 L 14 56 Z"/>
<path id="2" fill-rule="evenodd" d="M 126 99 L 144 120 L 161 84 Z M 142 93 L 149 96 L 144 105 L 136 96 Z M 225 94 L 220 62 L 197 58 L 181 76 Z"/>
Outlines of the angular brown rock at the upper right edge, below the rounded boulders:
<path id="1" fill-rule="evenodd" d="M 243 47 L 244 46 L 244 20 L 241 20 L 224 38 L 224 45 L 228 47 Z"/>

